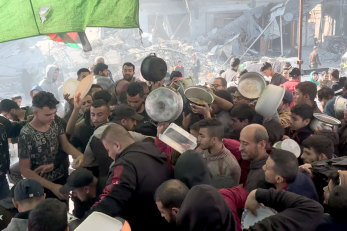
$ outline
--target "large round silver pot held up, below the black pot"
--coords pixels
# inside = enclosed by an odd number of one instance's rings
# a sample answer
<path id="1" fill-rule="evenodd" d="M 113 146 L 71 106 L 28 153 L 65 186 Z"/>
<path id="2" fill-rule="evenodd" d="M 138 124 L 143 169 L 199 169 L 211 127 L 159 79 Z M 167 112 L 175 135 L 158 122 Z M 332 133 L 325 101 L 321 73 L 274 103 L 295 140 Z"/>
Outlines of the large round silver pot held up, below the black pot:
<path id="1" fill-rule="evenodd" d="M 174 89 L 160 87 L 149 93 L 145 109 L 148 116 L 155 122 L 172 122 L 183 111 L 183 99 Z"/>

